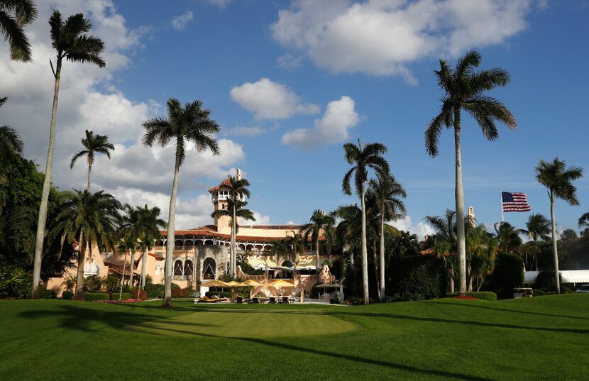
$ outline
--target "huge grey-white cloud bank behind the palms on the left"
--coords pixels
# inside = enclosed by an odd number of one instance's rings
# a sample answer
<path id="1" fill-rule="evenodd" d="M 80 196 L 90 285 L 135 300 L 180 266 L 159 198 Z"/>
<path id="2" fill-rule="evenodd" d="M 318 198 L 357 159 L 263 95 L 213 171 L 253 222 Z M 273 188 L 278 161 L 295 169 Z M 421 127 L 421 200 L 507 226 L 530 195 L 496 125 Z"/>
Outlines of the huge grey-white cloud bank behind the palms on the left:
<path id="1" fill-rule="evenodd" d="M 48 65 L 55 53 L 50 45 L 48 20 L 53 8 L 67 18 L 84 13 L 91 19 L 91 33 L 104 40 L 106 68 L 64 62 L 57 109 L 55 154 L 52 181 L 62 190 L 84 189 L 87 166 L 84 160 L 70 170 L 70 158 L 82 148 L 84 130 L 109 136 L 115 150 L 111 160 L 99 155 L 92 167 L 92 190 L 105 189 L 123 202 L 159 206 L 167 219 L 173 175 L 173 151 L 145 148 L 141 144 L 146 118 L 165 113 L 153 99 L 132 101 L 114 86 L 116 71 L 130 62 L 141 49 L 141 36 L 148 27 L 129 29 L 109 0 L 57 0 L 38 2 L 38 22 L 27 28 L 34 62 L 9 60 L 9 49 L 0 46 L 1 96 L 9 96 L 2 107 L 2 124 L 13 126 L 25 143 L 25 156 L 45 169 L 50 106 L 53 99 L 53 74 Z M 45 21 L 44 21 L 45 20 Z M 43 22 L 41 22 L 43 21 Z M 54 61 L 55 63 L 55 61 Z M 209 195 L 194 195 L 194 189 L 207 189 L 226 176 L 224 168 L 235 167 L 245 158 L 241 145 L 220 139 L 221 155 L 197 153 L 188 147 L 185 165 L 180 170 L 177 226 L 191 228 L 211 223 Z"/>

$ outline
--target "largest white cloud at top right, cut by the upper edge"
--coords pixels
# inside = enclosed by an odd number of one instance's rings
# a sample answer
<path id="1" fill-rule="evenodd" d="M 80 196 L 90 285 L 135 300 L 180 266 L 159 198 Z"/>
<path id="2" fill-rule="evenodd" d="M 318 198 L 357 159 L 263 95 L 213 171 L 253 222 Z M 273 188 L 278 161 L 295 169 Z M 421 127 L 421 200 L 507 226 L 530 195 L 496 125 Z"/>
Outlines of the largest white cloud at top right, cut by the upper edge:
<path id="1" fill-rule="evenodd" d="M 497 45 L 526 28 L 534 0 L 298 0 L 273 38 L 330 72 L 400 75 L 409 62 Z"/>

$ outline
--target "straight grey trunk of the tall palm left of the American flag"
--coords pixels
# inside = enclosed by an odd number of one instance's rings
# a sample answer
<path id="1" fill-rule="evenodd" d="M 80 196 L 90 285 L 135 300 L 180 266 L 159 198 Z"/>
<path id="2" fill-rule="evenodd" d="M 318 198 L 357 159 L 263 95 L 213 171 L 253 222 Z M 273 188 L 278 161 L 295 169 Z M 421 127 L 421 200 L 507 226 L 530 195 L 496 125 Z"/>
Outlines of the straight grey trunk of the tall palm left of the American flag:
<path id="1" fill-rule="evenodd" d="M 466 243 L 464 235 L 464 189 L 460 148 L 460 109 L 454 110 L 454 145 L 456 146 L 456 230 L 458 236 L 458 293 L 466 294 Z"/>

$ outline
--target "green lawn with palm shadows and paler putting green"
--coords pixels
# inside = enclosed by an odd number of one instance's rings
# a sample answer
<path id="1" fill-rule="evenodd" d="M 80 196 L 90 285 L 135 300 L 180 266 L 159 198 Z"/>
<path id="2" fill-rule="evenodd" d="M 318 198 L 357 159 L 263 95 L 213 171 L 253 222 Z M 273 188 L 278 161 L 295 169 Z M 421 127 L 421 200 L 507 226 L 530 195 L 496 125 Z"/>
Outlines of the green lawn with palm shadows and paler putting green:
<path id="1" fill-rule="evenodd" d="M 158 305 L 0 302 L 0 380 L 589 379 L 589 294 Z"/>

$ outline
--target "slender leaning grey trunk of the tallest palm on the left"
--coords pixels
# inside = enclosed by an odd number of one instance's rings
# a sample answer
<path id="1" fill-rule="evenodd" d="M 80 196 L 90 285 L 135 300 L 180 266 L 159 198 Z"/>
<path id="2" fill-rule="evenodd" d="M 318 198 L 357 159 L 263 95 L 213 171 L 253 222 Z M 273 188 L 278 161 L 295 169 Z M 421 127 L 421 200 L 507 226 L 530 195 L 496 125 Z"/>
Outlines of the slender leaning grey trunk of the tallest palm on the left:
<path id="1" fill-rule="evenodd" d="M 49 147 L 47 150 L 47 164 L 45 165 L 45 180 L 43 180 L 43 192 L 37 219 L 37 236 L 35 239 L 35 259 L 33 263 L 33 299 L 39 299 L 39 280 L 41 277 L 41 255 L 43 254 L 43 241 L 45 239 L 45 223 L 47 223 L 47 205 L 49 201 L 49 189 L 51 187 L 51 170 L 53 168 L 53 150 L 55 149 L 55 119 L 57 117 L 57 98 L 60 94 L 61 60 L 57 59 L 55 71 L 55 85 L 53 88 L 53 107 L 51 109 L 51 123 L 49 125 Z"/>

